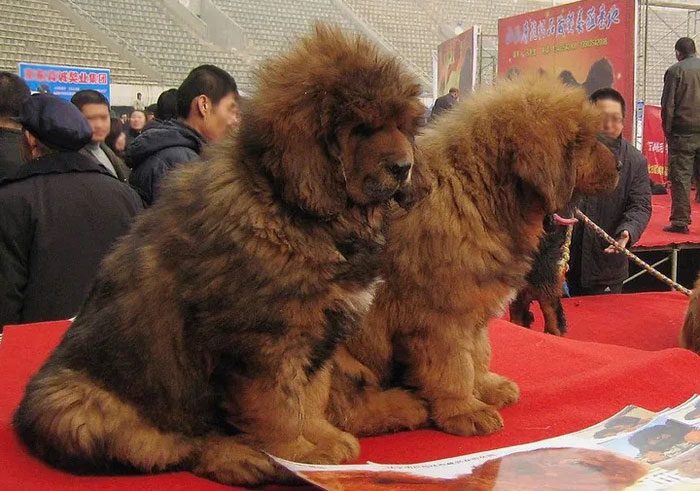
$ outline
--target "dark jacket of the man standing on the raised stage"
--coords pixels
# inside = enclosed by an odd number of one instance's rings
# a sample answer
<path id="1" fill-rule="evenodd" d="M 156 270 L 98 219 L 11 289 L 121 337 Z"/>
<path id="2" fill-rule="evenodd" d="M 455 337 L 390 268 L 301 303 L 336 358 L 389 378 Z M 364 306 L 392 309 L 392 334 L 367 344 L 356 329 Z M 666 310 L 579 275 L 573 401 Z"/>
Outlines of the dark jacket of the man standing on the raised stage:
<path id="1" fill-rule="evenodd" d="M 661 121 L 666 138 L 671 134 L 700 133 L 700 58 L 697 55 L 666 70 Z"/>

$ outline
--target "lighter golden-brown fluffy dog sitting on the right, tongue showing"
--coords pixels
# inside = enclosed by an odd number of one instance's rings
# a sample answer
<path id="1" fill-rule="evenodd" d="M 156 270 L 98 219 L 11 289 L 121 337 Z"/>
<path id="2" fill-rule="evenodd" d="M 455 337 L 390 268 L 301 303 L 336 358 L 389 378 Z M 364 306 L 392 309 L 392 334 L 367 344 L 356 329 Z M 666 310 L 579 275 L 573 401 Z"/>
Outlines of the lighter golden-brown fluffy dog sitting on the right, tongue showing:
<path id="1" fill-rule="evenodd" d="M 337 363 L 332 420 L 354 434 L 383 431 L 392 399 L 381 389 L 402 386 L 444 431 L 501 428 L 497 409 L 519 391 L 489 371 L 487 322 L 524 286 L 545 214 L 575 191 L 616 185 L 600 127 L 582 90 L 537 78 L 475 94 L 418 138 L 413 185 L 429 192 L 390 224 L 385 283 L 347 342 L 354 366 Z M 394 418 L 422 411 L 417 401 L 393 407 Z"/>

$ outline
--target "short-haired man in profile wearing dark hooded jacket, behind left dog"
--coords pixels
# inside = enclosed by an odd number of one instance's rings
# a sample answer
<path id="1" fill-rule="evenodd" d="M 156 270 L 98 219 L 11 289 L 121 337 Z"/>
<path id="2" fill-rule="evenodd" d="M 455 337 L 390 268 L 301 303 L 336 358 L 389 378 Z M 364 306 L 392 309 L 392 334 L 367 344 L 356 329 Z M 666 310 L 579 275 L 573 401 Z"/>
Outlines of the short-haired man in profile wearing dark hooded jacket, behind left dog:
<path id="1" fill-rule="evenodd" d="M 237 125 L 238 99 L 235 80 L 221 68 L 202 65 L 187 75 L 177 89 L 178 118 L 149 127 L 126 150 L 129 182 L 147 205 L 169 171 L 198 160 L 205 143 Z"/>

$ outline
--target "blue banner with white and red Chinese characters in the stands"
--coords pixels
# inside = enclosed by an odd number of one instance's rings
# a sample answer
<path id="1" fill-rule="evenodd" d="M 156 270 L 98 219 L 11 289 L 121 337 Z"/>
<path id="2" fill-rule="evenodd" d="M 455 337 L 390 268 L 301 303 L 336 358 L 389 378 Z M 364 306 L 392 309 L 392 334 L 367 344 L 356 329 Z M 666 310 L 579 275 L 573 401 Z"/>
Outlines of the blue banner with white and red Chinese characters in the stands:
<path id="1" fill-rule="evenodd" d="M 108 68 L 19 63 L 18 72 L 33 94 L 54 94 L 70 100 L 79 90 L 93 89 L 110 100 Z"/>

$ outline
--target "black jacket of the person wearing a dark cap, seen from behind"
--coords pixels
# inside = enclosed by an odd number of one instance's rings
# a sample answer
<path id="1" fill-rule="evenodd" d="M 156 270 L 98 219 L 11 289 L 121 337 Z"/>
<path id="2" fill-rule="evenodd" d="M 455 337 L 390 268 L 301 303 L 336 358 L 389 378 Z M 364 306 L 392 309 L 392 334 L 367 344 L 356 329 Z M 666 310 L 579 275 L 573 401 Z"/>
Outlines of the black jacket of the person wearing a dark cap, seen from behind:
<path id="1" fill-rule="evenodd" d="M 143 204 L 94 159 L 47 155 L 0 181 L 0 326 L 74 316 Z"/>

